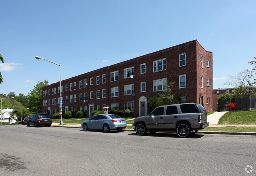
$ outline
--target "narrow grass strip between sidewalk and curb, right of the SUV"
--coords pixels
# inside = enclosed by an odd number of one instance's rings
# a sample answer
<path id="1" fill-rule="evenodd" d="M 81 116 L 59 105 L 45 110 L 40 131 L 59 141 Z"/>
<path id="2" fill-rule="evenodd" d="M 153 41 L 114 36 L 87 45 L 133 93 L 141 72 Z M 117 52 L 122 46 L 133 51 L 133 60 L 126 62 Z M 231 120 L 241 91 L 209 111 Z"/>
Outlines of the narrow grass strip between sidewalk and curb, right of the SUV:
<path id="1" fill-rule="evenodd" d="M 226 126 L 226 127 L 207 127 L 204 128 L 204 132 L 256 132 L 255 127 L 235 127 L 235 126 Z"/>

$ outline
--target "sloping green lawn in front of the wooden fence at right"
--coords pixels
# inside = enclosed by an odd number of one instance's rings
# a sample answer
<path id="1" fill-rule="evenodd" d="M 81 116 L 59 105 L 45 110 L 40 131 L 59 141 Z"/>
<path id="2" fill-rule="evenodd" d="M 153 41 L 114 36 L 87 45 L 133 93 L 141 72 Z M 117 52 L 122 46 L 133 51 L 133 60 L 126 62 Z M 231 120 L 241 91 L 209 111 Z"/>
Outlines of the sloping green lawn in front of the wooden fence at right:
<path id="1" fill-rule="evenodd" d="M 256 110 L 225 113 L 218 124 L 256 124 Z"/>

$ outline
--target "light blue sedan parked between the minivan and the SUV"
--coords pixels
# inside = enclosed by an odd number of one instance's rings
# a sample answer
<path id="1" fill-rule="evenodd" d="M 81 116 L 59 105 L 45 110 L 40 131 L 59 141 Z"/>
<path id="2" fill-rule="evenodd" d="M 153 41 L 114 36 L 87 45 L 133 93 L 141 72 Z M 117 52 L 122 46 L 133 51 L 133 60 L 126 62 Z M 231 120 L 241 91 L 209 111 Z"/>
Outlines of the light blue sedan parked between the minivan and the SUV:
<path id="1" fill-rule="evenodd" d="M 109 132 L 110 130 L 121 131 L 126 128 L 126 121 L 118 115 L 98 114 L 89 120 L 83 121 L 81 126 L 85 131 L 90 129 L 103 130 L 104 132 Z"/>

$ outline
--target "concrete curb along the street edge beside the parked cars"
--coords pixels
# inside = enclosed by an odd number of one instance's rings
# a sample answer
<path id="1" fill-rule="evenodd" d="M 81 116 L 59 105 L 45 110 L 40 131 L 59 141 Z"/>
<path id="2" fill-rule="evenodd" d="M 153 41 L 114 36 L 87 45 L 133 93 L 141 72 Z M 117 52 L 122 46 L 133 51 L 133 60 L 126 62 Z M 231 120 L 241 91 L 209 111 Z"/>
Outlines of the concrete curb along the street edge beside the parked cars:
<path id="1" fill-rule="evenodd" d="M 62 127 L 62 128 L 81 128 L 78 126 L 59 126 L 59 125 L 52 125 L 56 127 Z M 135 132 L 133 129 L 123 129 L 123 131 L 126 132 Z M 173 132 L 164 132 L 164 133 L 173 133 Z M 198 131 L 197 134 L 222 134 L 222 135 L 252 135 L 256 136 L 256 133 L 254 132 L 206 132 L 206 131 Z"/>

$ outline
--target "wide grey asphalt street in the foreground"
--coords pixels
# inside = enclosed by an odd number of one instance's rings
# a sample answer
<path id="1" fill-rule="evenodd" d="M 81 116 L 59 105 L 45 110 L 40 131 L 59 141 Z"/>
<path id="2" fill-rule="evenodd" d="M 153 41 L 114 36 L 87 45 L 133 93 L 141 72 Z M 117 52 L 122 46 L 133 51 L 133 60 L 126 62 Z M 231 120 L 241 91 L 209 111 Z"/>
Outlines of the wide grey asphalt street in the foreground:
<path id="1" fill-rule="evenodd" d="M 255 136 L 22 125 L 0 126 L 0 135 L 0 176 L 256 176 Z"/>

